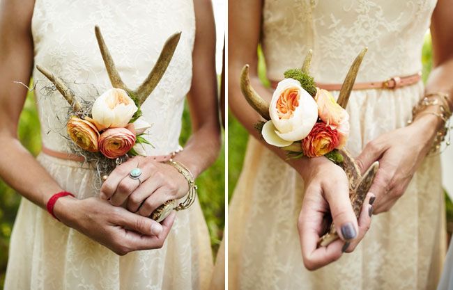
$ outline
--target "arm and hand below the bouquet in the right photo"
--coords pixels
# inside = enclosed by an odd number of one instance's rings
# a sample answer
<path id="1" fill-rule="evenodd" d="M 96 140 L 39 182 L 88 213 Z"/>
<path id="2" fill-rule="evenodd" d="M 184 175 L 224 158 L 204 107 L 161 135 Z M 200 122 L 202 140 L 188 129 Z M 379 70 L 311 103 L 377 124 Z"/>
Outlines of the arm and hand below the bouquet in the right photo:
<path id="1" fill-rule="evenodd" d="M 252 86 L 261 97 L 268 101 L 271 99 L 270 90 L 261 84 L 257 74 L 256 49 L 261 35 L 262 5 L 262 0 L 229 1 L 229 109 L 249 134 L 289 163 L 305 180 L 305 196 L 298 229 L 305 266 L 314 270 L 338 259 L 341 256 L 341 248 L 344 247 L 344 251 L 352 251 L 367 231 L 370 219 L 368 214 L 360 216 L 360 223 L 355 218 L 349 201 L 348 179 L 339 166 L 324 157 L 287 160 L 283 150 L 265 143 L 259 132 L 254 129 L 254 124 L 261 120 L 261 117 L 245 101 L 240 91 L 239 76 L 243 66 L 249 64 Z M 300 61 L 302 65 L 302 60 Z M 302 193 L 300 195 L 302 196 Z M 368 205 L 364 208 L 368 212 Z M 328 248 L 316 248 L 323 231 L 323 216 L 328 212 L 333 216 L 341 239 L 351 241 L 351 245 L 349 242 L 345 244 L 339 240 L 330 244 Z M 341 234 L 342 227 L 349 229 L 352 227 L 351 232 L 354 235 L 345 238 Z"/>

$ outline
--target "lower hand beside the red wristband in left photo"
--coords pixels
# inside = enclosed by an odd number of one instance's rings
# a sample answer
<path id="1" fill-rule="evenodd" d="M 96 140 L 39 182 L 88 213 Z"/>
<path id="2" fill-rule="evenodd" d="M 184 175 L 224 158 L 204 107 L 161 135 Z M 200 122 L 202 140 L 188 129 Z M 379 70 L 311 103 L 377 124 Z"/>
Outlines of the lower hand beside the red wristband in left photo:
<path id="1" fill-rule="evenodd" d="M 54 214 L 62 223 L 118 255 L 162 248 L 176 216 L 172 213 L 160 225 L 151 218 L 113 207 L 99 198 L 77 200 L 71 197 L 60 198 L 55 204 Z"/>

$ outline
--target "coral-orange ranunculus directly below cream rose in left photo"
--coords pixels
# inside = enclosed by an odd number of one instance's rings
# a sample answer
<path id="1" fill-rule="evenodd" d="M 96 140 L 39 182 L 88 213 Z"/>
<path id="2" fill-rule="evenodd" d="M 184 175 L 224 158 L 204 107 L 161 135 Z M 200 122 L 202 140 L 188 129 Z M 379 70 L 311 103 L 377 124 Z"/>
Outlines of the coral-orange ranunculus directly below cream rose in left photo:
<path id="1" fill-rule="evenodd" d="M 135 140 L 135 133 L 130 129 L 109 128 L 100 134 L 99 150 L 107 158 L 115 159 L 128 153 L 135 145 Z"/>

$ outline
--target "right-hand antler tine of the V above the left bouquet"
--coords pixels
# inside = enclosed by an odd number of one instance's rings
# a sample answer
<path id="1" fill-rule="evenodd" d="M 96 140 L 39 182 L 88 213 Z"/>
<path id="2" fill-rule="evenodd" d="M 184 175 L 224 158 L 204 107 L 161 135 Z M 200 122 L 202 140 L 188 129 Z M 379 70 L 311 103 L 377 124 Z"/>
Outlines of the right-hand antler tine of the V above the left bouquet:
<path id="1" fill-rule="evenodd" d="M 171 35 L 164 44 L 158 61 L 155 63 L 153 70 L 148 74 L 144 82 L 135 90 L 137 94 L 137 101 L 139 104 L 143 104 L 146 98 L 153 92 L 160 79 L 167 70 L 167 67 L 173 57 L 173 54 L 178 45 L 179 39 L 181 38 L 181 31 Z"/>

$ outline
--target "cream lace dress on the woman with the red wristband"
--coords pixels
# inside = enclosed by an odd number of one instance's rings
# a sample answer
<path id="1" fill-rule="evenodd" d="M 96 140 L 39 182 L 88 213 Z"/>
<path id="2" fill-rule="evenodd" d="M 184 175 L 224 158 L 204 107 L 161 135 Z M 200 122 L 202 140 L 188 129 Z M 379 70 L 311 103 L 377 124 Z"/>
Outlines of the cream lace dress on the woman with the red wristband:
<path id="1" fill-rule="evenodd" d="M 142 106 L 144 117 L 153 123 L 149 139 L 155 149 L 147 147 L 148 154 L 168 154 L 179 147 L 183 103 L 192 79 L 194 22 L 192 1 L 36 0 L 35 63 L 90 99 L 112 87 L 95 40 L 95 24 L 123 81 L 132 88 L 151 71 L 169 35 L 182 31 L 167 72 Z M 65 125 L 58 120 L 68 114 L 68 104 L 58 92 L 47 95 L 44 87 L 49 82 L 37 70 L 33 79 L 43 145 L 68 152 Z M 93 170 L 45 154 L 38 161 L 77 198 L 98 195 Z M 207 289 L 212 268 L 208 229 L 198 201 L 178 212 L 162 249 L 119 257 L 22 199 L 10 240 L 5 289 Z"/>

